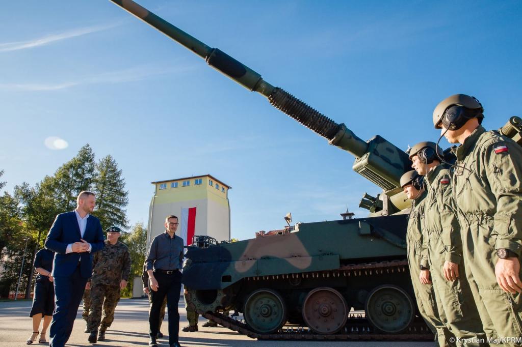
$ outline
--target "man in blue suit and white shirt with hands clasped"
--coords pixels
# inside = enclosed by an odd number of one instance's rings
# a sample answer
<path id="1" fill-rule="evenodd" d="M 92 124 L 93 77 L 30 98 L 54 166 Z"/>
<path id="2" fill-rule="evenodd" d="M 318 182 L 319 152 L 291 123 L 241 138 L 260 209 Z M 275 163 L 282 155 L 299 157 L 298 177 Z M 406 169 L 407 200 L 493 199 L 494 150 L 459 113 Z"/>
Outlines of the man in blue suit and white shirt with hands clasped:
<path id="1" fill-rule="evenodd" d="M 93 253 L 104 245 L 100 220 L 90 215 L 94 205 L 94 193 L 78 194 L 76 209 L 57 215 L 45 239 L 45 247 L 55 252 L 52 347 L 62 347 L 69 339 L 87 279 L 92 274 Z"/>

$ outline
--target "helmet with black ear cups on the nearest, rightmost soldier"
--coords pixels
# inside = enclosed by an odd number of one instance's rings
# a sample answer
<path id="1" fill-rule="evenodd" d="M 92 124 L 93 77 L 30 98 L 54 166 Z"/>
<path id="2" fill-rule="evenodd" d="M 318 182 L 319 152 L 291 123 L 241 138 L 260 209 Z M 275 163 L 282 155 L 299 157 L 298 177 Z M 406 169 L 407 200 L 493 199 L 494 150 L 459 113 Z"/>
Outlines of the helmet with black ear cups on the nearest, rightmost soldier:
<path id="1" fill-rule="evenodd" d="M 433 111 L 433 126 L 448 130 L 460 129 L 468 119 L 478 118 L 482 123 L 484 108 L 474 96 L 455 94 L 438 103 Z"/>

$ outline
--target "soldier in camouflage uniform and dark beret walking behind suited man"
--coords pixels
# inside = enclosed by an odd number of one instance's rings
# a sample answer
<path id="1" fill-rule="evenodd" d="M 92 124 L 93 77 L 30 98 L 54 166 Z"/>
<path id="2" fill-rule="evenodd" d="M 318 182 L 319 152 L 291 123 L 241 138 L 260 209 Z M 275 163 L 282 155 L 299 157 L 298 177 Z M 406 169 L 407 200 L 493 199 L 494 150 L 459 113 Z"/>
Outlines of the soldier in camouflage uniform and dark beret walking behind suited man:
<path id="1" fill-rule="evenodd" d="M 114 308 L 120 301 L 120 290 L 127 286 L 131 274 L 131 255 L 127 246 L 118 241 L 120 228 L 110 227 L 105 232 L 107 233 L 105 247 L 94 255 L 92 277 L 88 282 L 91 290 L 91 309 L 87 321 L 90 343 L 105 340 L 105 330 L 111 326 L 114 320 Z M 101 319 L 102 305 L 103 319 Z"/>

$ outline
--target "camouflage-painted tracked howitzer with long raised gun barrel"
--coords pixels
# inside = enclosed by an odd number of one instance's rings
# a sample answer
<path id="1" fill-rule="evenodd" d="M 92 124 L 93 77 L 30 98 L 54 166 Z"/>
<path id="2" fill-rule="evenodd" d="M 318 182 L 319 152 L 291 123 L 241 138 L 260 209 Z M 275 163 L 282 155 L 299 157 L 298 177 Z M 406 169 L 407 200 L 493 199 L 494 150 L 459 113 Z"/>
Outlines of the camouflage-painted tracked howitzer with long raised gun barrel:
<path id="1" fill-rule="evenodd" d="M 111 0 L 227 77 L 355 156 L 353 170 L 382 188 L 365 195 L 371 217 L 301 223 L 251 240 L 215 244 L 196 237 L 186 249 L 183 282 L 189 305 L 207 318 L 258 339 L 433 339 L 418 314 L 406 261 L 410 203 L 399 180 L 408 154 L 379 135 L 357 137 L 254 70 L 131 0 Z M 518 136 L 522 122 L 504 127 Z M 350 314 L 351 309 L 364 314 Z M 235 309 L 245 323 L 220 312 Z M 286 324 L 294 327 L 281 329 Z M 287 325 L 288 326 L 288 325 Z"/>

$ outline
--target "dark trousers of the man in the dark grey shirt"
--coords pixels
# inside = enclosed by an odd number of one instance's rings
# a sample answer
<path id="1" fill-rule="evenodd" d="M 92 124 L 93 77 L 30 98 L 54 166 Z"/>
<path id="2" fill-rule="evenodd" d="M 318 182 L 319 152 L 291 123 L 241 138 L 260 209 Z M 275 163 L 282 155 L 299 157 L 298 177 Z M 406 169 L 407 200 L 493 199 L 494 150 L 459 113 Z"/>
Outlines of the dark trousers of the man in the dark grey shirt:
<path id="1" fill-rule="evenodd" d="M 158 290 L 151 290 L 152 306 L 150 307 L 149 325 L 150 337 L 156 337 L 159 330 L 161 304 L 167 297 L 167 311 L 169 312 L 169 344 L 178 342 L 180 332 L 180 314 L 177 305 L 180 301 L 181 272 L 174 271 L 168 275 L 164 272 L 155 271 L 154 277 L 158 281 Z"/>

